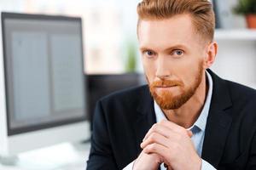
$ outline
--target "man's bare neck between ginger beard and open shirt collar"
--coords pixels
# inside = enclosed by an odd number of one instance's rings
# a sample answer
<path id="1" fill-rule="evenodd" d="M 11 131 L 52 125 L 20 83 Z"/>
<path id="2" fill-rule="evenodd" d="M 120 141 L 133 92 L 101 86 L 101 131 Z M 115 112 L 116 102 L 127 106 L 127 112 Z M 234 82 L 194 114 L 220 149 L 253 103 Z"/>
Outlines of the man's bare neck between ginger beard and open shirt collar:
<path id="1" fill-rule="evenodd" d="M 184 128 L 192 127 L 201 114 L 207 99 L 208 88 L 207 73 L 205 73 L 195 94 L 184 105 L 177 110 L 163 110 L 166 118 Z"/>

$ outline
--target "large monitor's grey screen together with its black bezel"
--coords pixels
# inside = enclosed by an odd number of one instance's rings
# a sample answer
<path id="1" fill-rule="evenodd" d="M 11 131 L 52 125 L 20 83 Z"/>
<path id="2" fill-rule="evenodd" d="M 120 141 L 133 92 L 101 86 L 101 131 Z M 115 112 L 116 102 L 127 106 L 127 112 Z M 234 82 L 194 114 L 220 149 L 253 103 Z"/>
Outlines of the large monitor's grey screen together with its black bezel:
<path id="1" fill-rule="evenodd" d="M 80 18 L 2 14 L 8 135 L 86 120 Z"/>

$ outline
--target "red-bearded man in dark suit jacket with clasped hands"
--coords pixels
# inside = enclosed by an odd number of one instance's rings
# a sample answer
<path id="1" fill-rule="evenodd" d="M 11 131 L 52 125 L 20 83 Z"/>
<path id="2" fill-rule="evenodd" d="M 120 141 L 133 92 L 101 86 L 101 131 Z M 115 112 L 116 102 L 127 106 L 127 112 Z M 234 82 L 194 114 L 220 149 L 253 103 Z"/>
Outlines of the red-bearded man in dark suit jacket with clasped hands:
<path id="1" fill-rule="evenodd" d="M 143 0 L 148 86 L 96 105 L 87 169 L 256 169 L 256 92 L 208 68 L 218 51 L 207 0 Z"/>

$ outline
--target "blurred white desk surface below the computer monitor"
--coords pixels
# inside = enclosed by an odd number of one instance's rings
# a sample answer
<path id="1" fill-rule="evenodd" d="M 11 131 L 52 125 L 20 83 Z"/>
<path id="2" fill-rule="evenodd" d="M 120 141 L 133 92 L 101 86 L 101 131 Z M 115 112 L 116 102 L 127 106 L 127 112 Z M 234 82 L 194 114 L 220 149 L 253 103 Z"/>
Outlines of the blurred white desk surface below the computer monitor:
<path id="1" fill-rule="evenodd" d="M 84 170 L 90 143 L 57 144 L 18 155 L 15 165 L 0 164 L 0 170 Z"/>

